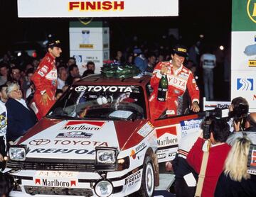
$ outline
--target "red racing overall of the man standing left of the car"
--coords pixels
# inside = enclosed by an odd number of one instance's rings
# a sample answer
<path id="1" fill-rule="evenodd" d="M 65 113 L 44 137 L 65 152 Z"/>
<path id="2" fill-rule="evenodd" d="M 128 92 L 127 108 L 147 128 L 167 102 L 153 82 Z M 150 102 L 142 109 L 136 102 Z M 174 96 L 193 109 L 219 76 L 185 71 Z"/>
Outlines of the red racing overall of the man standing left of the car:
<path id="1" fill-rule="evenodd" d="M 34 94 L 34 101 L 36 107 L 38 108 L 38 113 L 36 116 L 38 120 L 43 116 L 46 116 L 46 113 L 55 103 L 55 92 L 57 89 L 57 69 L 55 66 L 55 58 L 47 53 L 43 60 L 39 64 L 36 72 L 33 74 L 32 81 L 36 86 L 36 91 Z M 43 105 L 42 95 L 48 94 L 50 99 L 46 105 Z"/>

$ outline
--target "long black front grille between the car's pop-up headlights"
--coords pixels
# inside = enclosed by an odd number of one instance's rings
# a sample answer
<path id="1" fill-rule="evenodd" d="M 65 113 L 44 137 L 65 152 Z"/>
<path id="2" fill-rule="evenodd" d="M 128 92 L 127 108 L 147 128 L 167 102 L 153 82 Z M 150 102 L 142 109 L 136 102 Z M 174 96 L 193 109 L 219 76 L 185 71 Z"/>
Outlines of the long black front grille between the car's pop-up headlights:
<path id="1" fill-rule="evenodd" d="M 34 170 L 65 170 L 65 171 L 96 171 L 96 170 L 113 170 L 115 169 L 114 165 L 112 166 L 100 166 L 97 167 L 94 163 L 73 163 L 73 162 L 34 162 L 34 161 L 24 161 L 16 162 L 9 161 L 7 162 L 7 167 L 11 169 L 34 169 Z"/>

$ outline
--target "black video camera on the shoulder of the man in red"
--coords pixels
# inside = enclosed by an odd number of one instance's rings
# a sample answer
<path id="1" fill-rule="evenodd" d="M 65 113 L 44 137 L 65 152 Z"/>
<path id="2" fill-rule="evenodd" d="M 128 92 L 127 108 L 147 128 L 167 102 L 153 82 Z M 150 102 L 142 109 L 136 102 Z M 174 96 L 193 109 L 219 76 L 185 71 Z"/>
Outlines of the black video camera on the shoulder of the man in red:
<path id="1" fill-rule="evenodd" d="M 229 110 L 228 108 L 215 108 L 213 110 L 205 111 L 203 113 L 198 113 L 198 116 L 204 117 L 203 121 L 203 138 L 209 139 L 210 138 L 210 124 L 211 121 L 216 118 L 225 118 L 227 121 L 230 119 L 228 116 Z"/>

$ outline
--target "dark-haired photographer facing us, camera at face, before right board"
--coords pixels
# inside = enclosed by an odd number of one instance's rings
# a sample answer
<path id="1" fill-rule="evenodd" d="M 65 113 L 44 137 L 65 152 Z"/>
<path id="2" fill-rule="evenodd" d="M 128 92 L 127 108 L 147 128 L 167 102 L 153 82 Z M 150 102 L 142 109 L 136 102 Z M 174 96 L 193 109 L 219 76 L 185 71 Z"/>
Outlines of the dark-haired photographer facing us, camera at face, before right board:
<path id="1" fill-rule="evenodd" d="M 241 96 L 233 99 L 229 111 L 229 117 L 231 118 L 234 131 L 245 130 L 245 118 L 249 111 L 249 104 L 246 99 Z"/>

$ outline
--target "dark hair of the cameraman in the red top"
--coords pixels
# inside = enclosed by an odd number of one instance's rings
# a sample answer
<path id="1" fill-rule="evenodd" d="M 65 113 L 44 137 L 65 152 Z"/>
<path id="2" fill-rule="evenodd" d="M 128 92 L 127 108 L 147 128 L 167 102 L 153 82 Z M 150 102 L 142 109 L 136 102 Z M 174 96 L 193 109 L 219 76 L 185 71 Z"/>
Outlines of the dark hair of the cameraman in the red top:
<path id="1" fill-rule="evenodd" d="M 216 142 L 225 142 L 230 134 L 230 126 L 225 120 L 214 118 L 210 123 L 210 132 Z"/>

